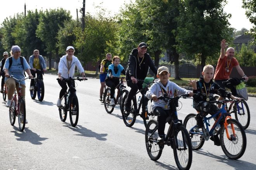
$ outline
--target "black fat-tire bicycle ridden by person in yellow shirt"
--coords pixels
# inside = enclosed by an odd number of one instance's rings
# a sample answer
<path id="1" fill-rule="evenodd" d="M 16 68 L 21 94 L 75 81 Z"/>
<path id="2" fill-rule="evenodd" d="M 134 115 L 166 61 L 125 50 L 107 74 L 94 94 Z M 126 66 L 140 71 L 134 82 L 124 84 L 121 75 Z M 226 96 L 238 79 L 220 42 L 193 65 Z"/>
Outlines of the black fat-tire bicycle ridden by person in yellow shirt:
<path id="1" fill-rule="evenodd" d="M 37 98 L 40 102 L 43 101 L 43 97 L 45 95 L 45 85 L 43 83 L 43 70 L 36 70 L 36 78 L 34 78 L 34 84 L 30 83 L 30 87 L 34 86 L 34 90 L 30 90 L 30 96 L 31 99 L 36 98 L 36 93 L 37 93 Z M 30 88 L 31 89 L 31 88 Z"/>

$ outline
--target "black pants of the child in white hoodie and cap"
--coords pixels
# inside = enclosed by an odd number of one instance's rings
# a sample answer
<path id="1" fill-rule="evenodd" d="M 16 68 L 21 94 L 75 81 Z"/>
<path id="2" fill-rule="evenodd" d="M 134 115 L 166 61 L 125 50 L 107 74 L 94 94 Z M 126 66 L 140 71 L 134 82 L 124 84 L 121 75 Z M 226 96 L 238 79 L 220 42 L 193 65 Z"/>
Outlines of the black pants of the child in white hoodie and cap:
<path id="1" fill-rule="evenodd" d="M 157 116 L 158 122 L 158 134 L 164 135 L 164 129 L 166 124 L 166 118 L 170 116 L 170 110 L 165 110 L 162 107 L 156 107 L 154 109 L 154 114 Z"/>

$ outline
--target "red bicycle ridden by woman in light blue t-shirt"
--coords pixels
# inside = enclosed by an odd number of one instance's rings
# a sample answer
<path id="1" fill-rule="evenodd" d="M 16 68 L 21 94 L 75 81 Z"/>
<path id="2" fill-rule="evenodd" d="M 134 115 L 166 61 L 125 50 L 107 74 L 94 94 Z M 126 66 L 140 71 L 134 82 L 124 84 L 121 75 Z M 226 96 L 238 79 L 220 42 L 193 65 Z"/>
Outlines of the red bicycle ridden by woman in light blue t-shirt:
<path id="1" fill-rule="evenodd" d="M 16 116 L 18 117 L 19 121 L 19 129 L 20 131 L 23 131 L 26 124 L 26 104 L 25 100 L 21 97 L 21 85 L 20 82 L 22 80 L 26 80 L 29 77 L 25 77 L 23 79 L 17 79 L 13 75 L 10 75 L 9 77 L 13 78 L 14 80 L 19 81 L 19 92 L 18 92 L 18 99 L 17 99 L 17 92 L 16 88 L 14 90 L 14 96 L 11 100 L 11 105 L 9 108 L 9 118 L 10 118 L 10 124 L 13 126 L 16 120 Z"/>

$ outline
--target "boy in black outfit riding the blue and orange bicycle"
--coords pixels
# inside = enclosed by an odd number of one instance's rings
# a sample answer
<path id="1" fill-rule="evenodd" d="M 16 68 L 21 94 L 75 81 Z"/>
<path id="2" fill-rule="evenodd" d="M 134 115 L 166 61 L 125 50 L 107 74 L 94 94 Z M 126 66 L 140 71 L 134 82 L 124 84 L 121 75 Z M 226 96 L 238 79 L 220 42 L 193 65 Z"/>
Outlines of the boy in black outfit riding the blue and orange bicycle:
<path id="1" fill-rule="evenodd" d="M 219 109 L 216 105 L 210 104 L 209 101 L 215 101 L 213 94 L 218 94 L 221 97 L 228 97 L 231 99 L 241 100 L 238 97 L 233 96 L 220 85 L 213 82 L 214 67 L 212 65 L 206 65 L 203 68 L 202 76 L 199 81 L 190 80 L 190 85 L 193 87 L 194 108 L 199 112 L 195 117 L 198 128 L 203 128 L 203 117 L 208 114 L 215 114 Z M 220 139 L 218 134 L 211 136 L 210 139 L 214 141 L 214 145 L 220 146 Z"/>

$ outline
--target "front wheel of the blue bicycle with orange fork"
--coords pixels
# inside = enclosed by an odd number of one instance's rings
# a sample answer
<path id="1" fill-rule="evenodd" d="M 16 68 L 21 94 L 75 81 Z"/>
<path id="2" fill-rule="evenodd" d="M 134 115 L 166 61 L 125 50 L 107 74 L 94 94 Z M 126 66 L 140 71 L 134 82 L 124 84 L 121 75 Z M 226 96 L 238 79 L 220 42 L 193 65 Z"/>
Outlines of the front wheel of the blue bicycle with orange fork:
<path id="1" fill-rule="evenodd" d="M 220 128 L 220 145 L 228 158 L 237 160 L 246 150 L 246 133 L 237 120 L 229 119 L 227 123 L 227 129 L 223 125 Z"/>

